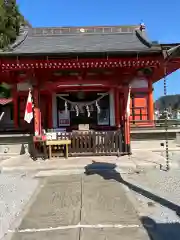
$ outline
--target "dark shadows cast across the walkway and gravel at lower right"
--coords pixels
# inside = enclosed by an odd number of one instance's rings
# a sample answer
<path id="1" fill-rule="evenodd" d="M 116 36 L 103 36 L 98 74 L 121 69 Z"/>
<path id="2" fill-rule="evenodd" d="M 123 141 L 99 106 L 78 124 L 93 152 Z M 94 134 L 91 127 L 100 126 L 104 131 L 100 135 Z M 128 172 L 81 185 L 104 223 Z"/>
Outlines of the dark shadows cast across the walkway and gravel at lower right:
<path id="1" fill-rule="evenodd" d="M 180 216 L 180 206 L 174 204 L 171 201 L 168 201 L 162 197 L 159 197 L 145 189 L 142 189 L 132 183 L 125 181 L 119 172 L 116 171 L 116 164 L 111 163 L 102 163 L 102 162 L 92 162 L 85 167 L 85 174 L 86 175 L 93 175 L 98 174 L 104 180 L 113 179 L 121 184 L 127 186 L 130 190 L 141 194 L 142 196 L 155 201 L 162 206 L 173 210 L 178 216 Z M 148 217 L 142 217 L 141 222 L 145 229 L 147 230 L 149 236 L 153 240 L 177 240 L 180 239 L 180 224 L 179 223 L 165 223 L 165 224 L 158 224 L 155 223 L 152 219 Z"/>

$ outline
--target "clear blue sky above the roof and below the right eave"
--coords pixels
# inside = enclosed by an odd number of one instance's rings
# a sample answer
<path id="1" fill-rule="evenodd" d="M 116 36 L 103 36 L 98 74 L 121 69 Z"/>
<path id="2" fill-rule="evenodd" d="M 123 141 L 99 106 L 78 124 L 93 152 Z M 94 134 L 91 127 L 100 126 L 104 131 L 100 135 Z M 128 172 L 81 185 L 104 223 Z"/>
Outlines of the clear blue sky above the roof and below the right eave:
<path id="1" fill-rule="evenodd" d="M 145 23 L 150 40 L 180 43 L 179 0 L 17 0 L 33 27 L 136 25 Z M 163 80 L 154 98 L 164 94 Z M 167 94 L 180 94 L 180 71 L 167 78 Z"/>

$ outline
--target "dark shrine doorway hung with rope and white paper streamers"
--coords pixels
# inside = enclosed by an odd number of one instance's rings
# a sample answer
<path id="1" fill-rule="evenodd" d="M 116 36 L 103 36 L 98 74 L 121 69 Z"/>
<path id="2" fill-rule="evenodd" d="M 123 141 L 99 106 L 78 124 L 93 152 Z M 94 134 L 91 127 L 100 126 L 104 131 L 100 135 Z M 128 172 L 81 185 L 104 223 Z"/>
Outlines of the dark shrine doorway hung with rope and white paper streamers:
<path id="1" fill-rule="evenodd" d="M 74 91 L 56 94 L 57 127 L 78 130 L 88 125 L 89 130 L 110 127 L 109 92 Z"/>

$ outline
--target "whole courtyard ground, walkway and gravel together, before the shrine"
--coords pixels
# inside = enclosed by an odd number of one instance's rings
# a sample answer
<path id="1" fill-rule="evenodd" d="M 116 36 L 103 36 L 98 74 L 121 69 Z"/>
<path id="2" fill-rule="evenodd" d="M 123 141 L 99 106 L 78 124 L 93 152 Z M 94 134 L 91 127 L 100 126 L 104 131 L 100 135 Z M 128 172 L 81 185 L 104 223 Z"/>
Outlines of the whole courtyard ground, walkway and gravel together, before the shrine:
<path id="1" fill-rule="evenodd" d="M 11 169 L 12 163 L 28 163 L 17 160 L 4 165 Z M 39 161 L 33 163 L 36 171 L 34 166 L 33 171 L 2 171 L 0 238 L 180 239 L 179 152 L 171 154 L 170 161 L 178 164 L 168 172 L 151 165 L 163 163 L 155 153 L 94 160 L 57 160 L 52 169 L 50 161 Z M 76 175 L 73 161 L 79 167 Z M 65 166 L 54 170 L 61 164 Z"/>

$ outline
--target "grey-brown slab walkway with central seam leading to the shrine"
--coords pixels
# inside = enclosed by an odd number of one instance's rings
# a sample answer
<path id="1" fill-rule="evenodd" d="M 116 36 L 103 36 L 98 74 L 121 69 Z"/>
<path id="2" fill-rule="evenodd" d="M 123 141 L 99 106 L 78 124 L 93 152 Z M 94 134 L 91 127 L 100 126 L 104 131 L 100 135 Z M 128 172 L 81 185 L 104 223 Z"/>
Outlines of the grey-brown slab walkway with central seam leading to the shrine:
<path id="1" fill-rule="evenodd" d="M 120 174 L 94 173 L 47 177 L 12 240 L 149 239 Z"/>

